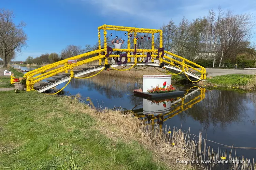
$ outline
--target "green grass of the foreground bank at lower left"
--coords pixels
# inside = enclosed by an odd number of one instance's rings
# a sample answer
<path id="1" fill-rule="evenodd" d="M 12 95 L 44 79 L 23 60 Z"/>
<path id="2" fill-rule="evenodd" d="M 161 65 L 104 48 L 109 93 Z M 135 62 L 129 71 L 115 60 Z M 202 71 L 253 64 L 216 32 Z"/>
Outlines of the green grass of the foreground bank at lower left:
<path id="1" fill-rule="evenodd" d="M 167 169 L 137 142 L 108 138 L 94 118 L 70 112 L 67 97 L 25 91 L 0 95 L 0 168 Z"/>

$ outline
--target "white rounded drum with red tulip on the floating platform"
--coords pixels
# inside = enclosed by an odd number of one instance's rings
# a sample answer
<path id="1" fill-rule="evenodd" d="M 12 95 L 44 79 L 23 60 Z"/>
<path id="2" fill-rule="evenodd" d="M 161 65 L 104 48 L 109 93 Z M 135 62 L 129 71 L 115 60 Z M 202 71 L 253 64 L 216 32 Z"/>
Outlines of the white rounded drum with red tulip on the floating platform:
<path id="1" fill-rule="evenodd" d="M 143 75 L 142 92 L 147 92 L 156 86 L 164 87 L 171 85 L 172 75 Z"/>

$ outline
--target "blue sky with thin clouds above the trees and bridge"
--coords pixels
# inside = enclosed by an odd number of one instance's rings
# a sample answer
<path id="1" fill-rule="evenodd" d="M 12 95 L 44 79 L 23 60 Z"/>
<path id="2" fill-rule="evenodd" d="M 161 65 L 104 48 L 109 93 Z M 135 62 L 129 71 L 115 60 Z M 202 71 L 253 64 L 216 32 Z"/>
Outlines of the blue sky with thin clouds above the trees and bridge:
<path id="1" fill-rule="evenodd" d="M 255 0 L 11 0 L 2 1 L 0 8 L 13 10 L 16 23 L 27 23 L 29 47 L 17 54 L 18 61 L 29 55 L 60 53 L 70 44 L 95 44 L 97 27 L 103 24 L 159 29 L 170 19 L 178 24 L 183 17 L 193 20 L 207 15 L 218 5 L 256 16 Z"/>

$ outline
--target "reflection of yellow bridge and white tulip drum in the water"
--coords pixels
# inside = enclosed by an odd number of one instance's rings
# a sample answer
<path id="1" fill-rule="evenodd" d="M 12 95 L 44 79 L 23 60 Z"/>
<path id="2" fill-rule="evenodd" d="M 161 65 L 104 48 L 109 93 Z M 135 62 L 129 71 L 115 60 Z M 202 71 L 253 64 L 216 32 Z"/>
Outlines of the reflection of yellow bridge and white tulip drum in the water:
<path id="1" fill-rule="evenodd" d="M 163 122 L 191 108 L 194 104 L 202 101 L 204 97 L 205 88 L 191 87 L 187 89 L 184 97 L 157 101 L 143 99 L 143 108 L 134 109 L 132 112 L 136 117 L 152 126 L 158 123 L 162 129 Z M 163 104 L 160 105 L 160 103 Z"/>

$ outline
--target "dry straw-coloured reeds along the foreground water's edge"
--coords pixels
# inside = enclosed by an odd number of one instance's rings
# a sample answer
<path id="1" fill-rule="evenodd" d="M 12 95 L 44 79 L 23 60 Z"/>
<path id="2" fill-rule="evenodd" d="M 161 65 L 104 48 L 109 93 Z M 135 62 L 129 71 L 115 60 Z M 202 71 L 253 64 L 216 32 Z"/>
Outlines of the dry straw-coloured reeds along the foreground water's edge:
<path id="1" fill-rule="evenodd" d="M 221 156 L 226 157 L 226 160 L 246 160 L 243 156 L 232 157 L 230 153 L 214 152 L 210 147 L 206 147 L 207 139 L 202 138 L 202 132 L 199 135 L 190 134 L 189 130 L 183 132 L 178 128 L 165 128 L 163 131 L 159 129 L 156 124 L 148 126 L 142 123 L 141 120 L 134 117 L 132 113 L 126 115 L 120 111 L 113 111 L 111 109 L 102 109 L 96 111 L 85 107 L 84 104 L 74 101 L 69 108 L 73 113 L 90 114 L 97 119 L 96 128 L 103 134 L 111 137 L 114 140 L 122 139 L 124 141 L 137 141 L 146 149 L 153 151 L 156 162 L 165 163 L 170 169 L 211 169 L 216 166 L 228 166 L 233 170 L 247 170 L 255 169 L 254 160 L 251 163 L 244 164 L 202 164 L 201 160 L 222 160 Z M 169 133 L 168 133 L 169 132 Z M 198 137 L 198 140 L 194 138 Z M 180 161 L 199 160 L 198 164 L 180 164 Z M 217 168 L 218 168 L 217 167 Z"/>

